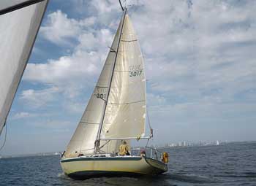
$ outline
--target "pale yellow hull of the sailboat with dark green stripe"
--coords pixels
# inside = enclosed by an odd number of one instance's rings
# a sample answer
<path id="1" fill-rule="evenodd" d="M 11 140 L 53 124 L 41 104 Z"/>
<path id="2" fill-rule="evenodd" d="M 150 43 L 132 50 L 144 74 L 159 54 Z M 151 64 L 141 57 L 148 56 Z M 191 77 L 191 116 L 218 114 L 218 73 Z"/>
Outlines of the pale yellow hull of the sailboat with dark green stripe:
<path id="1" fill-rule="evenodd" d="M 167 171 L 167 164 L 140 156 L 68 158 L 61 160 L 61 167 L 74 179 L 156 175 Z"/>

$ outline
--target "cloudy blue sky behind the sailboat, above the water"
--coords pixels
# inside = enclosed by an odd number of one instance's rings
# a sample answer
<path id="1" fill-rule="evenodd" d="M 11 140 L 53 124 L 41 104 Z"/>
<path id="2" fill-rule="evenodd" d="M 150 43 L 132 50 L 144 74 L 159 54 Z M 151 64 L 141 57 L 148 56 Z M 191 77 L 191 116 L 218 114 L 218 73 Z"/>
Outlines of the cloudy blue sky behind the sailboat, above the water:
<path id="1" fill-rule="evenodd" d="M 146 66 L 153 143 L 256 140 L 256 1 L 126 4 Z M 2 155 L 64 151 L 121 15 L 117 0 L 50 1 Z"/>

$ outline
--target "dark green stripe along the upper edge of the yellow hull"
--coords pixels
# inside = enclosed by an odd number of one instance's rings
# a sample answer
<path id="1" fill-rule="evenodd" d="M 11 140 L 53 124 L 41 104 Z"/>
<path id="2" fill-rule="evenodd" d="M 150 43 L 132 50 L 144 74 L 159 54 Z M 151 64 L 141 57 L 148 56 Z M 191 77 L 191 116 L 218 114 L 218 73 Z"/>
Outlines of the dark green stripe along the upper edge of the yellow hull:
<path id="1" fill-rule="evenodd" d="M 71 162 L 71 161 L 87 161 L 87 160 L 141 160 L 141 158 L 73 158 L 67 160 L 61 160 L 61 163 Z"/>

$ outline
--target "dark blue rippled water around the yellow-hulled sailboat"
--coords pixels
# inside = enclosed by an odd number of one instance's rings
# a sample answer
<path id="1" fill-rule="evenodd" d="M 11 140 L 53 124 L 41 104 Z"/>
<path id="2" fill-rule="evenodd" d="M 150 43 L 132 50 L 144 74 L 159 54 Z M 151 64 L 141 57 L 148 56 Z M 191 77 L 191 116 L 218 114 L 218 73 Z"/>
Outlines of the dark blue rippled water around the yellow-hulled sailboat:
<path id="1" fill-rule="evenodd" d="M 66 177 L 59 156 L 0 159 L 0 185 L 256 185 L 256 142 L 165 149 L 167 174 L 75 181 Z"/>

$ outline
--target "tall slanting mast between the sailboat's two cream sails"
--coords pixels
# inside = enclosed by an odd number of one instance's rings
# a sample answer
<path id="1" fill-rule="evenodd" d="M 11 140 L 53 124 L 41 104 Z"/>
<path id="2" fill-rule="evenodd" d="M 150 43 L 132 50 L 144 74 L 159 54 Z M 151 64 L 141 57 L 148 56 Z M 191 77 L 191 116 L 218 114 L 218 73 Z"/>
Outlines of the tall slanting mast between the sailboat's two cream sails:
<path id="1" fill-rule="evenodd" d="M 106 112 L 106 108 L 107 108 L 107 104 L 108 104 L 108 98 L 109 98 L 110 88 L 111 88 L 111 84 L 112 84 L 112 80 L 113 80 L 113 74 L 114 74 L 115 67 L 116 67 L 116 58 L 117 58 L 117 55 L 118 55 L 118 48 L 119 48 L 119 45 L 120 45 L 121 35 L 122 35 L 122 32 L 123 32 L 123 28 L 124 28 L 124 19 L 125 19 L 125 15 L 127 14 L 127 8 L 124 9 L 122 6 L 121 6 L 121 8 L 124 11 L 124 15 L 123 15 L 122 22 L 121 22 L 121 31 L 120 31 L 120 34 L 118 36 L 118 46 L 117 46 L 117 49 L 115 51 L 116 57 L 115 57 L 115 61 L 113 63 L 113 69 L 112 69 L 112 73 L 111 73 L 111 77 L 110 77 L 110 82 L 109 82 L 109 85 L 108 85 L 108 94 L 107 94 L 107 98 L 105 100 L 105 104 L 104 104 L 104 107 L 103 107 L 104 112 L 103 112 L 102 118 L 100 120 L 99 129 L 98 129 L 98 133 L 97 133 L 97 139 L 96 139 L 95 144 L 94 144 L 94 155 L 97 154 L 97 149 L 99 147 L 99 140 L 100 140 L 99 137 L 100 137 L 100 133 L 102 131 L 102 125 L 103 125 L 103 122 L 104 122 L 105 112 Z"/>

